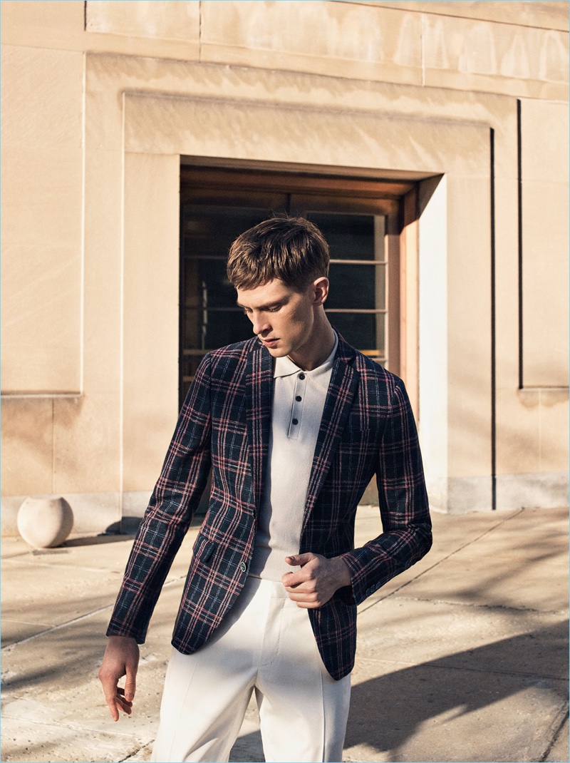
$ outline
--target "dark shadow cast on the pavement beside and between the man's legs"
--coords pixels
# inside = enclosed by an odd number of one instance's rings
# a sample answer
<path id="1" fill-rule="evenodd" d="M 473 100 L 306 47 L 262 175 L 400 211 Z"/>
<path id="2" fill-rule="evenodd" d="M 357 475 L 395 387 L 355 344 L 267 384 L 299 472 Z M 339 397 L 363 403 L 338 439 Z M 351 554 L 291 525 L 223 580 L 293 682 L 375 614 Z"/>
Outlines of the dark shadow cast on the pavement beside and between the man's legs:
<path id="1" fill-rule="evenodd" d="M 537 669 L 539 654 L 540 668 Z M 367 745 L 379 754 L 387 754 L 388 760 L 408 760 L 410 758 L 402 754 L 402 747 L 415 736 L 422 723 L 444 713 L 445 723 L 453 723 L 460 716 L 532 687 L 558 695 L 562 703 L 568 697 L 567 674 L 568 623 L 559 623 L 535 633 L 524 633 L 371 678 L 352 688 L 344 748 Z M 483 736 L 488 746 L 488 735 Z M 447 749 L 447 760 L 466 759 L 459 735 L 450 736 Z M 264 760 L 259 732 L 239 739 L 230 761 L 244 760 L 240 757 L 243 752 L 247 752 L 249 761 Z M 427 752 L 423 755 L 415 759 L 432 759 Z"/>

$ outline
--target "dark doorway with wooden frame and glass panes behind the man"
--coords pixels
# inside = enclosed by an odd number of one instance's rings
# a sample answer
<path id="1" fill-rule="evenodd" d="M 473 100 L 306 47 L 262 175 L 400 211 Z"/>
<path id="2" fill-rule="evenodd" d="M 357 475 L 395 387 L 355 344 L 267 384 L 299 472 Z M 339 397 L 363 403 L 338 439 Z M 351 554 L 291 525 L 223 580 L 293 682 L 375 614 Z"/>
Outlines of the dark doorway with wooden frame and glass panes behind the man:
<path id="1" fill-rule="evenodd" d="M 381 179 L 182 166 L 180 404 L 207 352 L 252 336 L 226 259 L 240 233 L 274 214 L 300 214 L 319 226 L 331 250 L 331 324 L 397 373 L 399 200 L 411 188 Z"/>

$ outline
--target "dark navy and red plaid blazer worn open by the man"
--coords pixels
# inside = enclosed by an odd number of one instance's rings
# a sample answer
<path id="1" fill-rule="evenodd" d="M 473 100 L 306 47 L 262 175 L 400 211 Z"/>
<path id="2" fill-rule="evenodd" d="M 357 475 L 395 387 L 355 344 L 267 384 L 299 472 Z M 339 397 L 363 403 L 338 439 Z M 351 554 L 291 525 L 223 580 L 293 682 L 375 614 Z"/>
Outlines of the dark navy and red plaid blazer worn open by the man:
<path id="1" fill-rule="evenodd" d="M 253 338 L 207 355 L 182 407 L 126 565 L 107 635 L 142 643 L 171 562 L 207 484 L 172 644 L 191 654 L 242 590 L 254 549 L 271 429 L 272 358 Z M 376 474 L 383 533 L 354 549 L 354 516 Z M 326 668 L 349 673 L 356 607 L 427 553 L 431 523 L 418 436 L 403 382 L 339 337 L 312 461 L 299 552 L 341 555 L 351 587 L 309 610 Z"/>

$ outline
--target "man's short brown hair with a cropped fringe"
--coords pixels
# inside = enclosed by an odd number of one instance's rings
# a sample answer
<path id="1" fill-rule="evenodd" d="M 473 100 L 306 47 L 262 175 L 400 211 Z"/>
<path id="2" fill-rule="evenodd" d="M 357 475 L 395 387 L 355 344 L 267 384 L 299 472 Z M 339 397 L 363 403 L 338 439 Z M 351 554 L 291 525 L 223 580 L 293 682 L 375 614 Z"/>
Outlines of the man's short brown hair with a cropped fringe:
<path id="1" fill-rule="evenodd" d="M 265 220 L 229 248 L 228 278 L 235 288 L 256 288 L 279 278 L 295 291 L 305 291 L 327 275 L 328 244 L 304 217 Z"/>

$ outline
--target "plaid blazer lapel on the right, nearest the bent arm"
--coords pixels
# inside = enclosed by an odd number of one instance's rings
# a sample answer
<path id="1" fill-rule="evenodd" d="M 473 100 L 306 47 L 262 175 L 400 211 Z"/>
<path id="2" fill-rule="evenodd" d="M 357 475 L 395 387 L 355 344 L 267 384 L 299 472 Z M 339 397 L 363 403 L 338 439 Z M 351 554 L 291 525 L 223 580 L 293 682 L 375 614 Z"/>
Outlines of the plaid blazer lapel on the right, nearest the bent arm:
<path id="1" fill-rule="evenodd" d="M 309 491 L 307 492 L 303 517 L 303 529 L 312 507 L 315 505 L 319 491 L 325 482 L 344 426 L 351 413 L 354 395 L 356 394 L 360 379 L 360 374 L 353 367 L 355 359 L 356 354 L 354 349 L 347 345 L 344 340 L 341 340 L 339 336 L 335 365 L 332 367 L 331 381 L 328 385 L 325 400 L 325 410 L 322 413 L 321 427 L 315 446 L 315 456 L 312 459 Z"/>

